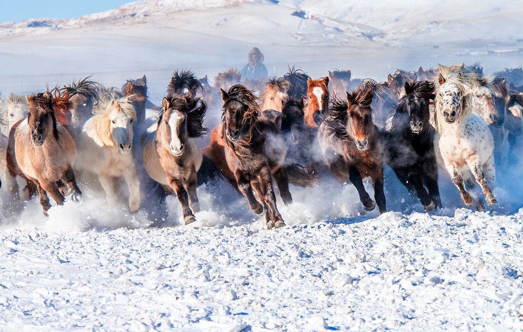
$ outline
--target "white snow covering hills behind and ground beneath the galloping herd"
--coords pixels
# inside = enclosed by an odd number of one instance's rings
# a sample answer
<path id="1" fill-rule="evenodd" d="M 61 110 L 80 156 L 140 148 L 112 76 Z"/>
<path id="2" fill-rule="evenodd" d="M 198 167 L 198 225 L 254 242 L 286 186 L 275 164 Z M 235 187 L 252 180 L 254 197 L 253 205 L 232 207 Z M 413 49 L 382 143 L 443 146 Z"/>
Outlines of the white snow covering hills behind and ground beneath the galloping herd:
<path id="1" fill-rule="evenodd" d="M 297 64 L 384 80 L 478 61 L 494 72 L 523 64 L 522 15 L 514 0 L 139 1 L 0 24 L 0 90 L 145 74 L 158 104 L 174 70 L 212 77 L 242 67 L 253 46 L 270 75 Z M 81 183 L 83 201 L 46 218 L 2 189 L 0 330 L 522 330 L 520 170 L 498 172 L 500 203 L 484 213 L 463 208 L 444 173 L 445 208 L 429 214 L 391 172 L 382 216 L 350 185 L 292 187 L 292 205 L 278 198 L 288 226 L 271 231 L 224 183 L 200 187 L 190 226 L 172 197 L 153 222 L 147 202 L 136 214 L 109 208 Z"/>

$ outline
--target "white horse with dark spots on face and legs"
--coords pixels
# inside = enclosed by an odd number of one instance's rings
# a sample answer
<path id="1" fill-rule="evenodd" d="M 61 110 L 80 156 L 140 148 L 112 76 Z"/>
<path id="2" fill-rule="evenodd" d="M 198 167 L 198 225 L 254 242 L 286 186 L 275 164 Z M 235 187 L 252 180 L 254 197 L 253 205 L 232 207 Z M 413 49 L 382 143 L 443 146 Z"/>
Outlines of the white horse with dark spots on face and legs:
<path id="1" fill-rule="evenodd" d="M 451 176 L 463 202 L 467 206 L 474 204 L 474 198 L 465 189 L 463 178 L 471 190 L 475 178 L 487 204 L 491 205 L 497 203 L 487 184 L 493 184 L 496 176 L 494 142 L 485 121 L 472 113 L 471 79 L 473 75 L 465 73 L 450 73 L 447 78 L 439 74 L 434 146 L 438 164 Z M 483 207 L 481 198 L 477 197 L 476 208 L 481 211 Z"/>

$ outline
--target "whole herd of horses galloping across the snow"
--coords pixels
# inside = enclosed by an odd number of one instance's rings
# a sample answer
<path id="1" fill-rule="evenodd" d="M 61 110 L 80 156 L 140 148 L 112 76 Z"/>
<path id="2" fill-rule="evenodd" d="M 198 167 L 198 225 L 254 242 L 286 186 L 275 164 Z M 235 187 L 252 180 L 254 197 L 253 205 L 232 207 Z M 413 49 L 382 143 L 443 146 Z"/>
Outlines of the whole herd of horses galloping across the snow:
<path id="1" fill-rule="evenodd" d="M 481 211 L 483 197 L 497 202 L 495 165 L 507 162 L 523 134 L 521 68 L 484 75 L 477 64 L 438 65 L 398 70 L 383 83 L 328 74 L 314 80 L 293 67 L 242 85 L 228 69 L 210 85 L 207 76 L 176 71 L 159 107 L 147 99 L 145 76 L 121 90 L 88 76 L 43 93 L 11 93 L 2 101 L 4 186 L 17 201 L 38 193 L 47 215 L 48 194 L 59 205 L 81 199 L 78 173 L 97 177 L 108 204 L 122 196 L 115 180 L 123 178 L 133 212 L 143 184 L 154 182 L 155 197 L 176 195 L 189 224 L 200 209 L 197 187 L 221 178 L 265 214 L 270 229 L 285 225 L 273 180 L 284 204 L 292 203 L 289 184 L 312 187 L 330 177 L 353 184 L 367 211 L 377 205 L 384 213 L 388 164 L 431 211 L 442 207 L 439 165 L 467 206 Z M 208 126 L 202 149 L 197 139 Z M 22 194 L 16 176 L 26 181 Z"/>

